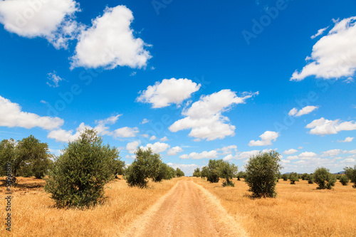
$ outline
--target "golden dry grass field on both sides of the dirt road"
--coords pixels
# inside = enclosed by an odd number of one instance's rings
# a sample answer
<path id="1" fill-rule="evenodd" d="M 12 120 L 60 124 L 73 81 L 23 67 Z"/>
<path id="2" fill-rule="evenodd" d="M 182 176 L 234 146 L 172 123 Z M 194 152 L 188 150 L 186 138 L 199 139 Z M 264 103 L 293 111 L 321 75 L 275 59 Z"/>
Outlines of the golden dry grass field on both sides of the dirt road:
<path id="1" fill-rule="evenodd" d="M 337 181 L 333 190 L 316 184 L 280 180 L 276 199 L 251 199 L 244 181 L 235 187 L 210 184 L 195 177 L 150 182 L 150 189 L 130 188 L 115 179 L 105 189 L 105 204 L 80 211 L 56 209 L 44 181 L 19 178 L 12 188 L 11 235 L 1 225 L 1 236 L 121 236 L 179 180 L 194 181 L 216 196 L 248 236 L 356 236 L 356 189 Z M 183 195 L 183 194 L 182 194 Z M 1 186 L 1 196 L 5 188 Z M 217 201 L 217 202 L 219 202 Z M 4 199 L 1 205 L 6 206 Z M 1 216 L 6 212 L 1 209 Z M 221 235 L 219 235 L 221 236 Z"/>

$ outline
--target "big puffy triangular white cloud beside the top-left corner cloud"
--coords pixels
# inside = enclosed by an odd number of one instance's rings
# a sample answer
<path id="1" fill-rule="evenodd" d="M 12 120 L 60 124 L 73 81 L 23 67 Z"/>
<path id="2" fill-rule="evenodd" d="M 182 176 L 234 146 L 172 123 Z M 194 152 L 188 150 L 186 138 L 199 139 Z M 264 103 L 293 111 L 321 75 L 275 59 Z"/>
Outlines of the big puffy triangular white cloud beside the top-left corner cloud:
<path id="1" fill-rule="evenodd" d="M 72 68 L 145 67 L 152 56 L 145 50 L 147 44 L 133 35 L 133 19 L 126 6 L 107 7 L 103 16 L 92 21 L 93 26 L 80 33 Z"/>

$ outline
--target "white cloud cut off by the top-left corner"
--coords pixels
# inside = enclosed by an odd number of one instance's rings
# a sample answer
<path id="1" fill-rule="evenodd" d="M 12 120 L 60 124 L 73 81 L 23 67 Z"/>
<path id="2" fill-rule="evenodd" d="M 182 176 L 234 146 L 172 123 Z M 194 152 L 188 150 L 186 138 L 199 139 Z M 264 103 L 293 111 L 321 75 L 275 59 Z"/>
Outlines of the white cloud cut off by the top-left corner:
<path id="1" fill-rule="evenodd" d="M 0 1 L 0 22 L 6 31 L 27 38 L 46 38 L 56 48 L 66 48 L 78 33 L 73 21 L 80 11 L 73 0 Z"/>

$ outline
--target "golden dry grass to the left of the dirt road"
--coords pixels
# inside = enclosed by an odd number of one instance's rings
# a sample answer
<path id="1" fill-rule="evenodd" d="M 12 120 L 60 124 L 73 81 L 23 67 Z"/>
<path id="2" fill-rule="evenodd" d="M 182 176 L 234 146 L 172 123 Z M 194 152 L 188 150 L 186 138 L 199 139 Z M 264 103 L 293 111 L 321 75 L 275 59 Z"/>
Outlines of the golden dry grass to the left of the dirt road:
<path id="1" fill-rule="evenodd" d="M 119 236 L 180 179 L 150 183 L 151 189 L 130 188 L 125 180 L 116 179 L 105 189 L 105 204 L 80 211 L 56 209 L 43 191 L 44 181 L 19 178 L 19 185 L 12 188 L 11 236 Z M 4 186 L 0 194 L 4 217 Z M 4 224 L 0 226 L 0 236 L 9 236 Z"/>

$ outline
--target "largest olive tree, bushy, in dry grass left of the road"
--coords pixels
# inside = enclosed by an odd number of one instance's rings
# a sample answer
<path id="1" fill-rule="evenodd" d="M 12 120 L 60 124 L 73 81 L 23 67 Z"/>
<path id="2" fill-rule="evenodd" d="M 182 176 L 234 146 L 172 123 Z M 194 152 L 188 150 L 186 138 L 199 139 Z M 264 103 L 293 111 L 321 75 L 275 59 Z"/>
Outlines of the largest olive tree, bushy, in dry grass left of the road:
<path id="1" fill-rule="evenodd" d="M 114 177 L 112 166 L 119 152 L 103 145 L 95 130 L 69 142 L 46 179 L 45 190 L 58 207 L 87 207 L 104 197 L 104 186 Z"/>

